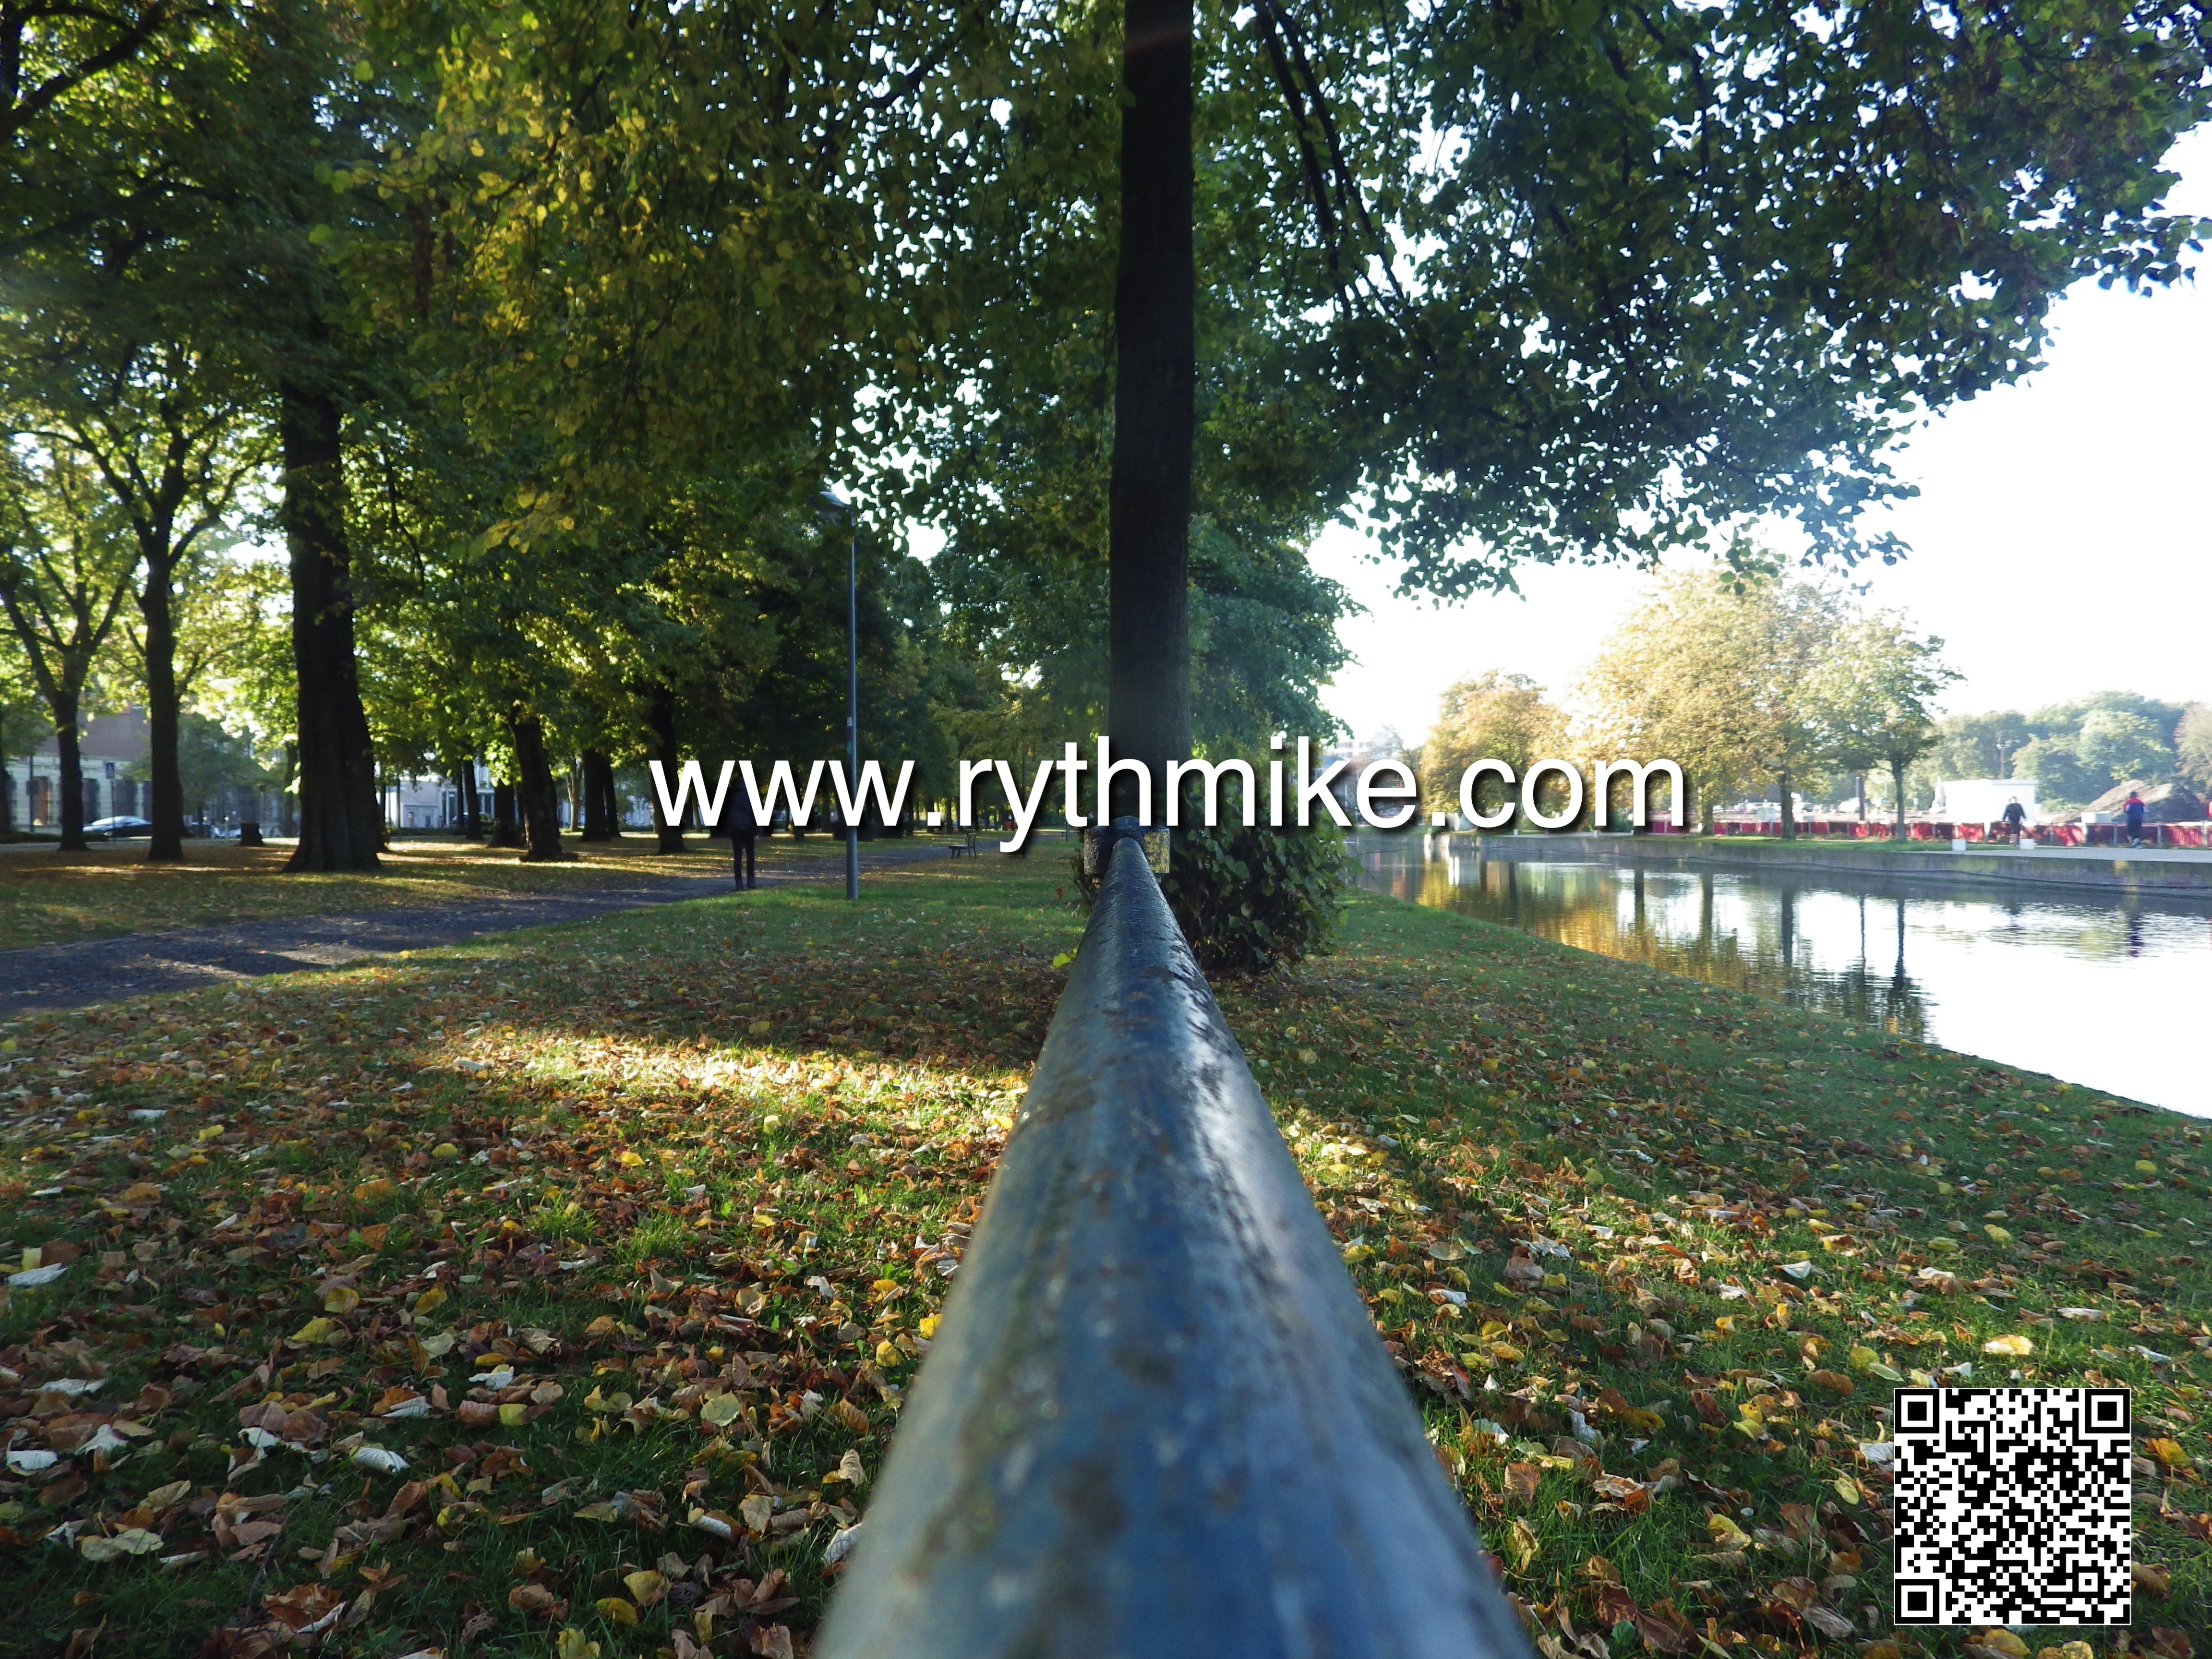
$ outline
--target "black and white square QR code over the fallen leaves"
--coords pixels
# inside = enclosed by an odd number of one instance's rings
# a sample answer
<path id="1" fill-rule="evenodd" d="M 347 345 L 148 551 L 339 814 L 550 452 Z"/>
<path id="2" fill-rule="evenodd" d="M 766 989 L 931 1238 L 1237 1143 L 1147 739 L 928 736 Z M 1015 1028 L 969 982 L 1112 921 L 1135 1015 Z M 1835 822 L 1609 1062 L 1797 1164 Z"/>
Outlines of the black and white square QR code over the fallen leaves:
<path id="1" fill-rule="evenodd" d="M 2128 1391 L 1898 1389 L 1898 1624 L 2128 1621 Z"/>

